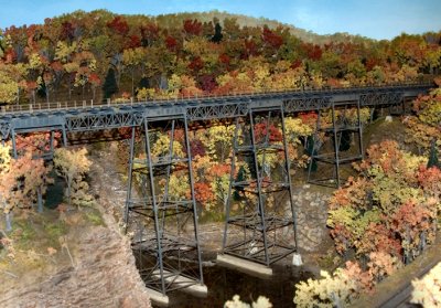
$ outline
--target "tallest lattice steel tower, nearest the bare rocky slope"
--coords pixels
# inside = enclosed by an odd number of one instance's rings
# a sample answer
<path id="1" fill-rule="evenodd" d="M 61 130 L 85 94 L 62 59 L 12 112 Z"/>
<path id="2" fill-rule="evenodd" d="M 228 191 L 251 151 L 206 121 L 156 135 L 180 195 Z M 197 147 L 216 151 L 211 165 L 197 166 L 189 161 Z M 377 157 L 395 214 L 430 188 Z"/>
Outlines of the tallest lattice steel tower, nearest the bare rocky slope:
<path id="1" fill-rule="evenodd" d="M 144 118 L 138 129 L 139 137 L 135 127 L 131 132 L 125 222 L 133 236 L 141 276 L 149 289 L 163 296 L 205 287 L 185 115 L 170 120 Z M 176 139 L 178 129 L 183 140 Z"/>

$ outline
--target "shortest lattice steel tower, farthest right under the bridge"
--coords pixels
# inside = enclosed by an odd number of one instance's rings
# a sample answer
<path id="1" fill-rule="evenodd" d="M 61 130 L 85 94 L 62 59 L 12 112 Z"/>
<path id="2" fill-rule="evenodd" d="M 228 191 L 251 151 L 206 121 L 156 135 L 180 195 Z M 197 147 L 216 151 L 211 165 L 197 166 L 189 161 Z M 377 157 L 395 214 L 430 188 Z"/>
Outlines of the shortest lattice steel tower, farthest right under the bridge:
<path id="1" fill-rule="evenodd" d="M 348 108 L 351 108 L 352 105 L 352 102 L 332 102 L 330 110 L 332 119 L 331 127 L 323 124 L 324 110 L 319 109 L 310 164 L 308 168 L 308 182 L 338 188 L 342 184 L 341 166 L 363 159 L 363 124 L 361 119 L 359 99 L 356 103 L 355 123 L 351 123 L 351 115 L 348 115 Z M 349 149 L 341 149 L 342 139 L 351 138 L 351 136 L 357 139 L 356 149 L 352 151 L 349 151 Z M 330 150 L 330 148 L 331 151 L 323 153 L 323 151 Z M 333 167 L 332 171 L 323 168 L 326 164 Z M 313 170 L 315 168 L 320 168 L 319 172 Z"/>

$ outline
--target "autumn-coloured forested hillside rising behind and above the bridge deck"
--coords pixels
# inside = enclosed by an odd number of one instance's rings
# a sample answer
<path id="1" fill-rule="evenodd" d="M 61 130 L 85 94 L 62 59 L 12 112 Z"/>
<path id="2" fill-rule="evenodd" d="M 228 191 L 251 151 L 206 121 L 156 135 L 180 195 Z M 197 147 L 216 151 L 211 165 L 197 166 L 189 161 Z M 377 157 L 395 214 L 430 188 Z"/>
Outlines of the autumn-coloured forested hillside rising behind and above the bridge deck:
<path id="1" fill-rule="evenodd" d="M 222 12 L 76 11 L 0 35 L 0 102 L 384 84 L 439 72 L 441 33 L 320 36 Z"/>

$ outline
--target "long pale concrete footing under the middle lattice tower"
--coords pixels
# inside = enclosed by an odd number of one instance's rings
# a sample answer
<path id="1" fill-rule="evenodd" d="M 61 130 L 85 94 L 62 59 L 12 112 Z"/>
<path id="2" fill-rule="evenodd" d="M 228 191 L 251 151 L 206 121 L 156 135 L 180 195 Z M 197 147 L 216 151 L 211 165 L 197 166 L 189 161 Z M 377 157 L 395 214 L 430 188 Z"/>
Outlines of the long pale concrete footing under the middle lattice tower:
<path id="1" fill-rule="evenodd" d="M 269 278 L 270 276 L 272 276 L 271 267 L 226 254 L 218 254 L 216 257 L 216 263 L 222 266 L 249 274 L 251 276 L 257 276 L 259 278 Z"/>

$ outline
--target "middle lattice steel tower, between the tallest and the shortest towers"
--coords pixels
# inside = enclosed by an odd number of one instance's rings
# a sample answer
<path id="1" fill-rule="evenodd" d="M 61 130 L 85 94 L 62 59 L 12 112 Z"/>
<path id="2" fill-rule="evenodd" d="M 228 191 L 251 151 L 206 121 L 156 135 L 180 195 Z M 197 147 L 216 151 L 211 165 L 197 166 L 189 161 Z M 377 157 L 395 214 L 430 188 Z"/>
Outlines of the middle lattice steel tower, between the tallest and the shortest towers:
<path id="1" fill-rule="evenodd" d="M 297 252 L 284 137 L 281 107 L 236 118 L 223 255 L 270 266 Z"/>

